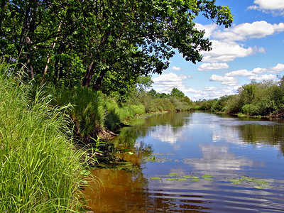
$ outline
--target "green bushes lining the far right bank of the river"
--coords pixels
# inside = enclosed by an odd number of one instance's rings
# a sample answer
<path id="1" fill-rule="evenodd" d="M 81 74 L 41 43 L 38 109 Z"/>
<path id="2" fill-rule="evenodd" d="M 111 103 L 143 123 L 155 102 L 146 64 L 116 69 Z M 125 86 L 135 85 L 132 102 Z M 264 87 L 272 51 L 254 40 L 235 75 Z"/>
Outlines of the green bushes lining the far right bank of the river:
<path id="1" fill-rule="evenodd" d="M 252 81 L 238 94 L 195 102 L 195 109 L 238 114 L 239 116 L 283 117 L 284 77 L 279 81 Z"/>

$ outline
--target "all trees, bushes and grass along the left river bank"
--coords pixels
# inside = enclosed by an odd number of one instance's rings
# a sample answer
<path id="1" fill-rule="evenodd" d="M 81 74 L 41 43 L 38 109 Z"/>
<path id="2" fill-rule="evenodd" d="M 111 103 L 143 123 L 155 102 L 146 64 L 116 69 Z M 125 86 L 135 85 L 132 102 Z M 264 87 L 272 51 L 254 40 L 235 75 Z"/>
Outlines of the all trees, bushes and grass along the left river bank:
<path id="1" fill-rule="evenodd" d="M 131 116 L 192 109 L 178 89 L 145 88 L 173 49 L 194 63 L 211 50 L 200 14 L 233 21 L 214 0 L 1 1 L 1 212 L 77 211 L 84 175 L 72 143 L 94 157 Z"/>

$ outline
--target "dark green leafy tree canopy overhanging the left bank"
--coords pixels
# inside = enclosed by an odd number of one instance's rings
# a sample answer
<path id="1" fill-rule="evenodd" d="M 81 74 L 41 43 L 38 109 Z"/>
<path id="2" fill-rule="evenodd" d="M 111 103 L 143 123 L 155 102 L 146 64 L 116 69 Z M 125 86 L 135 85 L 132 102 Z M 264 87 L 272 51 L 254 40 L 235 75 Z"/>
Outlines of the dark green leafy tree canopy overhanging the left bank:
<path id="1" fill-rule="evenodd" d="M 195 18 L 233 21 L 215 0 L 4 0 L 0 16 L 2 58 L 25 65 L 38 82 L 95 89 L 161 74 L 174 49 L 201 61 L 211 43 Z"/>

